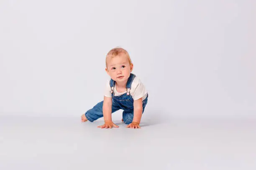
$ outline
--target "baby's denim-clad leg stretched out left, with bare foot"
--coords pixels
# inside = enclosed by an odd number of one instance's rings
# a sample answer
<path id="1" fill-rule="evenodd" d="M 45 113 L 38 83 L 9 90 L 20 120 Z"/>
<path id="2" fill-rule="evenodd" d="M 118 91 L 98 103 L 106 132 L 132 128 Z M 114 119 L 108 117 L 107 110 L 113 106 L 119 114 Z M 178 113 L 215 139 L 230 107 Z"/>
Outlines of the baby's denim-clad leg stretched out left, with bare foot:
<path id="1" fill-rule="evenodd" d="M 90 122 L 93 122 L 100 117 L 103 117 L 103 101 L 97 103 L 92 109 L 87 110 L 85 114 L 82 115 L 82 122 L 85 122 L 89 120 Z M 119 110 L 120 106 L 115 103 L 114 100 L 112 100 L 112 113 Z"/>

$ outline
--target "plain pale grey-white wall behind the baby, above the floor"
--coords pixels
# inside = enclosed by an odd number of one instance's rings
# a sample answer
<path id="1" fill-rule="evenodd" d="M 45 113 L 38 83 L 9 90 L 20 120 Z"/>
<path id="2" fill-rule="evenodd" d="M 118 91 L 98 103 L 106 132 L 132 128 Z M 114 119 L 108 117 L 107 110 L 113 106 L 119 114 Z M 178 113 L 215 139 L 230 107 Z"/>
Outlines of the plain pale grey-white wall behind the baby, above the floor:
<path id="1" fill-rule="evenodd" d="M 253 0 L 1 0 L 0 115 L 77 117 L 125 48 L 147 112 L 256 117 Z"/>

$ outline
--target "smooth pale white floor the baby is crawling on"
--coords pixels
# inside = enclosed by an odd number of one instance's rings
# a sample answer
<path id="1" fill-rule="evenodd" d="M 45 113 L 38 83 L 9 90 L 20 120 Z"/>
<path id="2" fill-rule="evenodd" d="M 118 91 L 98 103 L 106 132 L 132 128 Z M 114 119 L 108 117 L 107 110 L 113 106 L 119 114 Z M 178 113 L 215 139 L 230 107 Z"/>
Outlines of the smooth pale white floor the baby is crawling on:
<path id="1" fill-rule="evenodd" d="M 256 170 L 256 120 L 0 117 L 0 170 Z"/>

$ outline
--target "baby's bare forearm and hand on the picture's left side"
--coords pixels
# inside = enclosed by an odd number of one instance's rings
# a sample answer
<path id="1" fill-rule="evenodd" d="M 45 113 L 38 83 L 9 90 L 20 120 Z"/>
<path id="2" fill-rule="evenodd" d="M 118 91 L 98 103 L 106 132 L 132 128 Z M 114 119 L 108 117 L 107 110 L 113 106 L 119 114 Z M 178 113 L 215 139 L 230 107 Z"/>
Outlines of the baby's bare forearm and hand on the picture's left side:
<path id="1" fill-rule="evenodd" d="M 104 100 L 103 100 L 103 118 L 104 118 L 104 125 L 100 125 L 98 126 L 98 128 L 118 128 L 118 125 L 115 125 L 112 122 L 112 117 L 111 117 L 111 113 L 112 113 L 112 97 L 106 97 L 104 96 Z"/>

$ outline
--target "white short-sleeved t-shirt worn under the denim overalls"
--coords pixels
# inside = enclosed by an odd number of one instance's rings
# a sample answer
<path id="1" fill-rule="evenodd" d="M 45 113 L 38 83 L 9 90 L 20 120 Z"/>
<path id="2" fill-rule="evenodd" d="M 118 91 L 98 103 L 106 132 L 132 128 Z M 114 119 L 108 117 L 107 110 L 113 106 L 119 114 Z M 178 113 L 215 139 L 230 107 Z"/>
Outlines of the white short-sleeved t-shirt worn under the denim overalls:
<path id="1" fill-rule="evenodd" d="M 127 93 L 125 92 L 118 92 L 116 91 L 116 87 L 114 86 L 114 95 L 120 96 Z M 133 100 L 138 100 L 142 97 L 142 100 L 146 99 L 148 92 L 146 91 L 145 86 L 142 84 L 141 80 L 136 76 L 133 79 L 133 82 L 131 84 L 131 90 L 130 95 L 133 97 Z M 111 95 L 111 87 L 110 87 L 110 80 L 107 81 L 106 87 L 105 87 L 105 94 L 106 97 L 112 97 Z"/>

